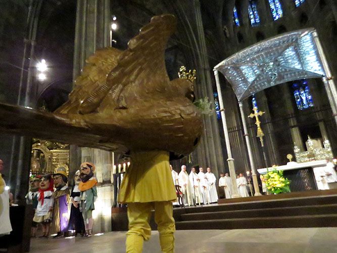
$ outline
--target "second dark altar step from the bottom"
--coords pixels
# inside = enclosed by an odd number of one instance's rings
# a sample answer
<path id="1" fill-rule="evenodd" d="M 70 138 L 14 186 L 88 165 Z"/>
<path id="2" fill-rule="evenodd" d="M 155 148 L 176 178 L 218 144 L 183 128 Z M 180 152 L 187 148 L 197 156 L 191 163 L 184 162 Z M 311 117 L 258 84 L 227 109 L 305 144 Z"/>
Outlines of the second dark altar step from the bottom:
<path id="1" fill-rule="evenodd" d="M 182 214 L 178 221 L 337 214 L 337 204 Z"/>

